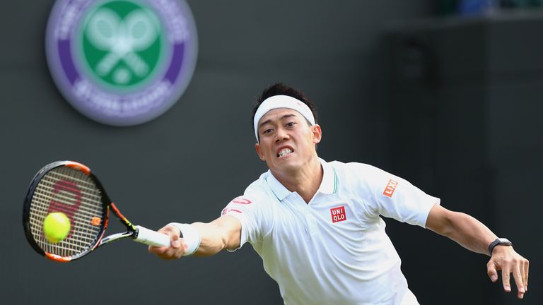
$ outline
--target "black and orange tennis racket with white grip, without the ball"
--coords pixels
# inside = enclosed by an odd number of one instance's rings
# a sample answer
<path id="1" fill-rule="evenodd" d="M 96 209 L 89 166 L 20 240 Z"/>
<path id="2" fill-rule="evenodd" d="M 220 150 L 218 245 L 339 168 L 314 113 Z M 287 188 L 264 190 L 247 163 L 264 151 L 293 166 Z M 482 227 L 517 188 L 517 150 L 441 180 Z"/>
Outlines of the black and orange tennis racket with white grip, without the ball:
<path id="1" fill-rule="evenodd" d="M 110 210 L 127 232 L 104 237 Z M 49 242 L 43 233 L 45 217 L 54 212 L 64 213 L 71 224 L 66 238 L 58 243 Z M 25 198 L 23 226 L 37 253 L 60 262 L 74 261 L 127 237 L 151 246 L 170 246 L 168 235 L 132 225 L 107 197 L 91 169 L 71 161 L 53 162 L 37 172 Z"/>

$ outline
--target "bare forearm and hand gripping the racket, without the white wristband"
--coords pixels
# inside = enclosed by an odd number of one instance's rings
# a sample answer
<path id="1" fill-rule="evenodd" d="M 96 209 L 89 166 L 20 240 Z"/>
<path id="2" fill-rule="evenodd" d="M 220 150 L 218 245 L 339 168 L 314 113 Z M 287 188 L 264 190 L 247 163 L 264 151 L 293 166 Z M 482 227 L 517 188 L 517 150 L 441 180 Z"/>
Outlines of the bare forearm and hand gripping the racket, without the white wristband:
<path id="1" fill-rule="evenodd" d="M 208 223 L 194 222 L 201 242 L 194 256 L 212 256 L 223 249 L 235 249 L 240 246 L 241 224 L 235 217 L 223 215 Z M 158 232 L 168 234 L 170 247 L 149 246 L 148 251 L 165 260 L 180 258 L 187 251 L 185 240 L 180 237 L 180 229 L 174 225 L 166 225 Z"/>

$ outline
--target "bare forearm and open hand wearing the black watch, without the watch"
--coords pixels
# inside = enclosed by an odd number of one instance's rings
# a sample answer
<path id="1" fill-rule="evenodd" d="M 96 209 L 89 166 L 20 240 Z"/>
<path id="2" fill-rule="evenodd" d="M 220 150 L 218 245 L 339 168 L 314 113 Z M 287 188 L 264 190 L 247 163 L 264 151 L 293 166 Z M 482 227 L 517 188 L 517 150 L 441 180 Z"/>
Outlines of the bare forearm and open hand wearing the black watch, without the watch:
<path id="1" fill-rule="evenodd" d="M 529 262 L 515 252 L 512 246 L 496 246 L 492 253 L 488 247 L 497 237 L 479 220 L 465 213 L 452 212 L 440 205 L 434 205 L 426 220 L 426 228 L 433 232 L 456 241 L 471 251 L 491 254 L 486 270 L 492 282 L 498 280 L 498 270 L 501 270 L 503 289 L 510 292 L 510 274 L 513 273 L 518 298 L 522 299 L 528 289 Z"/>

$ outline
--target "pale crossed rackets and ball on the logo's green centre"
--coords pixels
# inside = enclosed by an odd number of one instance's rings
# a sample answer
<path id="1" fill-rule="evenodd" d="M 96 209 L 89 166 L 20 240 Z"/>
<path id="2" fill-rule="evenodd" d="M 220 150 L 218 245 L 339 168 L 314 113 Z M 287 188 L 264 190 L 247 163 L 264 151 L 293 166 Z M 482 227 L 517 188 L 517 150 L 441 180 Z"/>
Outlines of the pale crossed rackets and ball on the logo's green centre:
<path id="1" fill-rule="evenodd" d="M 107 52 L 95 66 L 95 72 L 102 77 L 113 72 L 113 80 L 119 85 L 128 83 L 134 74 L 146 76 L 149 66 L 136 52 L 151 47 L 159 31 L 156 16 L 146 9 L 132 11 L 123 19 L 109 8 L 98 9 L 86 27 L 93 47 Z M 120 61 L 129 69 L 118 66 Z"/>

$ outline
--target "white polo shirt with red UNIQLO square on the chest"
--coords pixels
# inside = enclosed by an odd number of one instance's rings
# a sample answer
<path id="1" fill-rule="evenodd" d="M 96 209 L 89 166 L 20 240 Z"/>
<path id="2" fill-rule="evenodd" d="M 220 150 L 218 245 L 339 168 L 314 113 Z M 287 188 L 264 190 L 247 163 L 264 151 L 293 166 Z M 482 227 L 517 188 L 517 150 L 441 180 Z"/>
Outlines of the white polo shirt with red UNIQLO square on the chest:
<path id="1" fill-rule="evenodd" d="M 228 203 L 240 244 L 262 257 L 285 304 L 419 304 L 380 215 L 424 227 L 440 200 L 370 165 L 320 162 L 308 204 L 269 171 Z"/>

